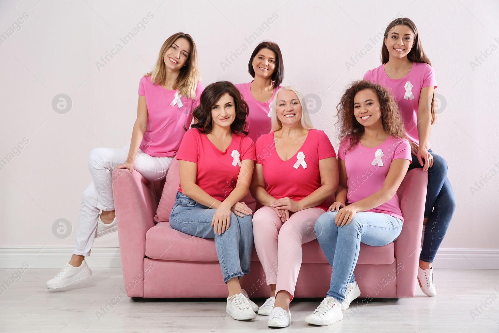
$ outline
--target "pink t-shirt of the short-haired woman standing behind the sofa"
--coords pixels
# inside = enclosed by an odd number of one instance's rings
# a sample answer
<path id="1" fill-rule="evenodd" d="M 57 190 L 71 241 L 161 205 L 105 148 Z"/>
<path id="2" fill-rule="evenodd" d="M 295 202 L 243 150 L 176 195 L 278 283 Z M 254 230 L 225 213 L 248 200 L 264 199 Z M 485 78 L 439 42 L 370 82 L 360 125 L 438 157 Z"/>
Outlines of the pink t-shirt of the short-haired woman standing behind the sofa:
<path id="1" fill-rule="evenodd" d="M 250 131 L 248 136 L 251 138 L 251 140 L 253 140 L 253 142 L 256 142 L 256 139 L 258 139 L 260 135 L 270 132 L 270 104 L 274 99 L 277 89 L 279 89 L 281 86 L 279 85 L 274 88 L 274 92 L 270 100 L 268 100 L 267 102 L 259 102 L 254 99 L 253 95 L 251 94 L 251 82 L 238 83 L 236 84 L 236 87 L 239 89 L 241 95 L 243 96 L 243 99 L 248 103 L 248 106 L 250 107 L 250 113 L 248 114 L 248 118 L 246 119 L 246 121 L 248 122 L 248 130 Z"/>

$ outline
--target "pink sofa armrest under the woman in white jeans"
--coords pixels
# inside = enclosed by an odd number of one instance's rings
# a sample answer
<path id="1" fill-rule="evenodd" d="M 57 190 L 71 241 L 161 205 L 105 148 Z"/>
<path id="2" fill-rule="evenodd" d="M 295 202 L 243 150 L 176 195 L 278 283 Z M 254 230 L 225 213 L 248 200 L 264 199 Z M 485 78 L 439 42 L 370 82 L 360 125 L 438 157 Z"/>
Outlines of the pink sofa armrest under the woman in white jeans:
<path id="1" fill-rule="evenodd" d="M 156 189 L 135 170 L 116 169 L 112 179 L 125 290 L 128 297 L 144 297 L 146 233 L 154 227 Z"/>

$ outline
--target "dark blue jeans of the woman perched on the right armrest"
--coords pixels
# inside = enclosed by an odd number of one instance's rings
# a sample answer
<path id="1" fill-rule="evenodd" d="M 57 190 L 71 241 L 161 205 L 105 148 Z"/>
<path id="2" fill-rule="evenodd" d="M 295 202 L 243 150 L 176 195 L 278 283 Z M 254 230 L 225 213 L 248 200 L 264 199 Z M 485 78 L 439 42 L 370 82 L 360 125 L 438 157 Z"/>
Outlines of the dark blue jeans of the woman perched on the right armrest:
<path id="1" fill-rule="evenodd" d="M 447 178 L 447 162 L 442 156 L 434 154 L 431 149 L 428 151 L 433 156 L 433 166 L 428 169 L 424 215 L 428 221 L 426 222 L 423 248 L 419 259 L 433 263 L 456 210 L 456 197 Z M 418 157 L 413 155 L 409 170 L 415 168 L 422 168 L 422 166 L 419 164 Z"/>

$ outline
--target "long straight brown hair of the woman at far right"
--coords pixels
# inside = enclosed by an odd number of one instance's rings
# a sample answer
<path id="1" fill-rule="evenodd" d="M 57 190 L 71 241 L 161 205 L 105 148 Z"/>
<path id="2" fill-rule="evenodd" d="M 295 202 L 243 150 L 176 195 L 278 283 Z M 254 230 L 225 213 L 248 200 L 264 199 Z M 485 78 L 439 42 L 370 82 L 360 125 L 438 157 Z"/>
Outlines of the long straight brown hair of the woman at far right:
<path id="1" fill-rule="evenodd" d="M 425 52 L 423 51 L 423 46 L 421 45 L 421 40 L 419 39 L 418 28 L 410 18 L 401 17 L 391 21 L 390 24 L 388 24 L 388 26 L 385 29 L 384 39 L 386 40 L 388 38 L 388 33 L 395 25 L 406 25 L 410 27 L 412 32 L 414 33 L 414 46 L 411 48 L 411 51 L 409 51 L 409 54 L 407 54 L 407 59 L 413 62 L 427 63 L 431 66 L 432 63 L 430 59 L 426 56 Z M 385 43 L 383 43 L 383 45 L 381 46 L 381 63 L 385 64 L 388 62 L 388 60 L 390 60 L 390 53 L 388 52 L 388 48 L 386 47 Z M 432 107 L 431 107 L 432 124 L 435 122 L 437 117 L 435 113 L 434 103 L 435 103 L 435 91 L 433 92 Z"/>

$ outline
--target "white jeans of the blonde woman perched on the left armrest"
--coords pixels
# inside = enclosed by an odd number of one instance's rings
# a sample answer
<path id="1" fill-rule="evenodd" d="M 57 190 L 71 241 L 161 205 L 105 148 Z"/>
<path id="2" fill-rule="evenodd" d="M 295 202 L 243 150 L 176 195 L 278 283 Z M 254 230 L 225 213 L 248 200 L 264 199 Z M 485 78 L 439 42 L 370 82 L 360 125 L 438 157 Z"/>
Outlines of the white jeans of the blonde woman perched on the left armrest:
<path id="1" fill-rule="evenodd" d="M 122 149 L 95 148 L 88 156 L 88 168 L 93 181 L 88 185 L 81 198 L 81 210 L 78 214 L 78 231 L 73 254 L 90 256 L 96 233 L 100 211 L 114 210 L 112 172 L 118 164 L 128 157 L 130 144 Z M 166 177 L 171 157 L 153 157 L 139 149 L 135 158 L 134 170 L 137 170 L 150 182 Z"/>

